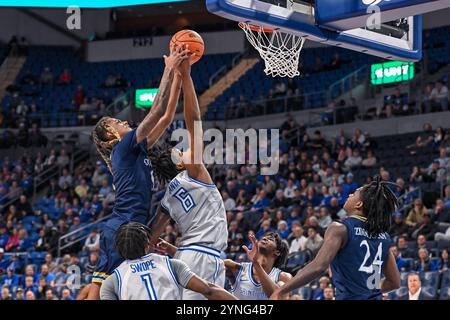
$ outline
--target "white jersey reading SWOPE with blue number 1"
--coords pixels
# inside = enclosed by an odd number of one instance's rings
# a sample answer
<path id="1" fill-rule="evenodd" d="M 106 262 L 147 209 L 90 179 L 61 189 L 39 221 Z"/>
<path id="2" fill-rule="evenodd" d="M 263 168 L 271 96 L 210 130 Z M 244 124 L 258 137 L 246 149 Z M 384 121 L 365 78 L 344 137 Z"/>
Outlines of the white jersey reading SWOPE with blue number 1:
<path id="1" fill-rule="evenodd" d="M 114 270 L 120 300 L 180 300 L 179 285 L 169 257 L 150 253 L 125 260 Z"/>

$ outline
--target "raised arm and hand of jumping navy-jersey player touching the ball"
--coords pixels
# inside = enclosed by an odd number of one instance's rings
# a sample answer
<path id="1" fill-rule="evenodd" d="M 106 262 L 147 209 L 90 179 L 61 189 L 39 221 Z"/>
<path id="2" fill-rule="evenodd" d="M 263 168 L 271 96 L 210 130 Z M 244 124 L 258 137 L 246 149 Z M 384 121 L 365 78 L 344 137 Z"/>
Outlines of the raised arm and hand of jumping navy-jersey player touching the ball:
<path id="1" fill-rule="evenodd" d="M 136 142 L 140 143 L 148 139 L 159 119 L 164 116 L 170 99 L 172 81 L 175 77 L 176 68 L 181 61 L 189 58 L 189 51 L 186 48 L 172 46 L 170 55 L 164 56 L 164 73 L 159 84 L 153 107 L 136 130 Z M 151 141 L 149 141 L 149 146 Z"/>

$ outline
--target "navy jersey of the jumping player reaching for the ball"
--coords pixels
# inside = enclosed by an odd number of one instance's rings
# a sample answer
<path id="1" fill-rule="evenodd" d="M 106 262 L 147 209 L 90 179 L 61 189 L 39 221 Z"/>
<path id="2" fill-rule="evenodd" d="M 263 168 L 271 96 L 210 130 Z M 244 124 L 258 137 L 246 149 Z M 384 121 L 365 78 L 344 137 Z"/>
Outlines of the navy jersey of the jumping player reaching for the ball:
<path id="1" fill-rule="evenodd" d="M 153 188 L 147 140 L 136 142 L 136 129 L 122 137 L 111 152 L 116 199 L 108 226 L 117 229 L 127 221 L 147 224 Z"/>

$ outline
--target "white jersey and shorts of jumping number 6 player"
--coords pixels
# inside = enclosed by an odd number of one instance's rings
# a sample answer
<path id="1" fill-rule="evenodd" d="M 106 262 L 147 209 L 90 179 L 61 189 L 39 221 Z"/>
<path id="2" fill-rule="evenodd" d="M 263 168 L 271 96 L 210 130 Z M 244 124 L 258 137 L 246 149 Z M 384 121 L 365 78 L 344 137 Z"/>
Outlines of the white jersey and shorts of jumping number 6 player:
<path id="1" fill-rule="evenodd" d="M 217 187 L 193 179 L 183 171 L 167 186 L 161 207 L 181 232 L 175 258 L 184 261 L 200 278 L 223 288 L 225 265 L 221 252 L 227 247 L 228 229 L 225 207 Z M 183 290 L 182 299 L 205 298 Z"/>

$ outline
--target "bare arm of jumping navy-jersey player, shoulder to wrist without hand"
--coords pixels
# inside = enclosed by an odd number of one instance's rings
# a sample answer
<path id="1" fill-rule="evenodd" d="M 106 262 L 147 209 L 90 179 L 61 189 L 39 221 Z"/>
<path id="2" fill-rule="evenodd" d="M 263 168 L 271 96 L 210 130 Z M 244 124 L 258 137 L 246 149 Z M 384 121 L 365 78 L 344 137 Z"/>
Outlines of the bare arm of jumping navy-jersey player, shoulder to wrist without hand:
<path id="1" fill-rule="evenodd" d="M 169 68 L 164 69 L 164 74 L 161 78 L 161 83 L 153 102 L 153 107 L 137 128 L 136 133 L 140 139 L 147 137 L 155 127 L 158 120 L 166 113 L 174 75 L 175 70 Z"/>

